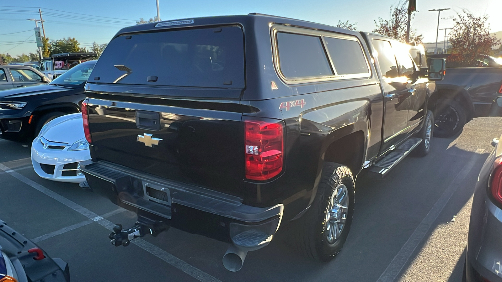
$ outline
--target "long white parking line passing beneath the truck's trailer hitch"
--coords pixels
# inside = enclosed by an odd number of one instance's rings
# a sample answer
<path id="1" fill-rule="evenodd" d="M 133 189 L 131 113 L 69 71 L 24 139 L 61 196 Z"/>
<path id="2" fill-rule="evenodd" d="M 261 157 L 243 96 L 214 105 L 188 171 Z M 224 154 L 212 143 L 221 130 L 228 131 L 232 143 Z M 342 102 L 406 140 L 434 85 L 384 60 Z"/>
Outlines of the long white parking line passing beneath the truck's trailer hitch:
<path id="1" fill-rule="evenodd" d="M 65 205 L 65 206 L 71 208 L 72 210 L 86 216 L 87 218 L 89 218 L 91 220 L 99 217 L 99 215 L 97 215 L 96 213 L 82 207 L 81 205 L 79 205 L 71 200 L 66 199 L 65 197 L 59 195 L 58 193 L 56 193 L 48 188 L 45 188 L 44 186 L 36 183 L 35 181 L 15 172 L 13 170 L 11 170 L 10 168 L 8 168 L 2 164 L 0 164 L 0 170 L 5 171 L 6 173 L 8 173 L 11 176 L 20 180 L 21 182 L 24 182 L 25 184 L 37 189 L 38 191 L 44 193 L 45 195 L 53 198 L 54 200 L 62 203 L 63 205 Z M 115 225 L 107 219 L 101 219 L 96 222 L 99 225 L 105 227 L 106 229 L 108 229 L 110 231 L 113 230 L 113 226 Z M 141 238 L 135 239 L 134 241 L 131 241 L 131 243 L 150 252 L 151 254 L 157 256 L 158 258 L 164 260 L 165 262 L 171 264 L 172 266 L 180 269 L 181 271 L 187 273 L 188 275 L 194 277 L 195 279 L 197 279 L 201 282 L 221 282 L 219 279 L 217 279 L 217 278 L 209 275 L 208 273 L 200 270 L 199 268 L 192 266 L 191 264 L 177 258 L 176 256 L 157 247 L 156 245 L 149 243 L 145 240 L 142 240 Z"/>

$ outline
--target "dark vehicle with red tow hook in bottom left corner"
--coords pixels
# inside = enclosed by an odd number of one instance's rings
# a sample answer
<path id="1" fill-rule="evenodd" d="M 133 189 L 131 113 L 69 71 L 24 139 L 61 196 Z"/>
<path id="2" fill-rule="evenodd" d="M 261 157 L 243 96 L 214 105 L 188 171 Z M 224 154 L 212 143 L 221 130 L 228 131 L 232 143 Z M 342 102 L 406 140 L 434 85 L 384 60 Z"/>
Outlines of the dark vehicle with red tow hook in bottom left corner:
<path id="1" fill-rule="evenodd" d="M 69 282 L 68 263 L 51 258 L 22 233 L 0 220 L 0 281 Z"/>

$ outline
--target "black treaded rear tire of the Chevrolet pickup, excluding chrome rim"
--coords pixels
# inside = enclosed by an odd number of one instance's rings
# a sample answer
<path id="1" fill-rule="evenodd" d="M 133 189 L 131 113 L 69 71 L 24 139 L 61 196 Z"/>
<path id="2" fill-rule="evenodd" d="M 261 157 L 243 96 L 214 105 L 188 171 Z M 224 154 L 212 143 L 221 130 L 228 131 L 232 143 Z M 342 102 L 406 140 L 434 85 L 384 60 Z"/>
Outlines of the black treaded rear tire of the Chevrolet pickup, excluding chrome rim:
<path id="1" fill-rule="evenodd" d="M 344 184 L 348 190 L 348 212 L 339 238 L 330 244 L 326 239 L 324 221 L 333 190 L 339 184 Z M 311 207 L 302 217 L 292 222 L 290 233 L 295 239 L 293 242 L 295 249 L 304 256 L 320 261 L 328 261 L 338 254 L 347 239 L 352 223 L 354 195 L 354 179 L 350 169 L 340 164 L 325 162 L 317 194 Z"/>

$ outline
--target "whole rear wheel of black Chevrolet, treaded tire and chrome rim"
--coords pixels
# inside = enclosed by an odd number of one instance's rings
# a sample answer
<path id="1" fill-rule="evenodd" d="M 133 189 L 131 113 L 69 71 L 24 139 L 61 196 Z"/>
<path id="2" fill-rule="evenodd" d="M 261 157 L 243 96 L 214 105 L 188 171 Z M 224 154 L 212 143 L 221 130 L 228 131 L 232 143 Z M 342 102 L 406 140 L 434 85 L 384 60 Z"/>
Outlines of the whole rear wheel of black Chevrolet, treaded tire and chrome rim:
<path id="1" fill-rule="evenodd" d="M 294 222 L 297 248 L 308 257 L 327 261 L 340 252 L 354 212 L 354 179 L 350 169 L 324 163 L 317 195 L 307 213 Z"/>

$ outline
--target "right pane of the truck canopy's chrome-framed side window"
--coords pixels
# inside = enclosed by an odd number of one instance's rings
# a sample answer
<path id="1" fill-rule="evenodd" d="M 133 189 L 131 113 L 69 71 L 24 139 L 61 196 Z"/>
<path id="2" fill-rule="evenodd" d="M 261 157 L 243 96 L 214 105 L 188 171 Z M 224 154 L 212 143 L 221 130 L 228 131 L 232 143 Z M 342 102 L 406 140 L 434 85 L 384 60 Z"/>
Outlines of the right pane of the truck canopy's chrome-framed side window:
<path id="1" fill-rule="evenodd" d="M 358 41 L 332 37 L 325 37 L 324 41 L 338 75 L 369 72 L 366 58 Z"/>

